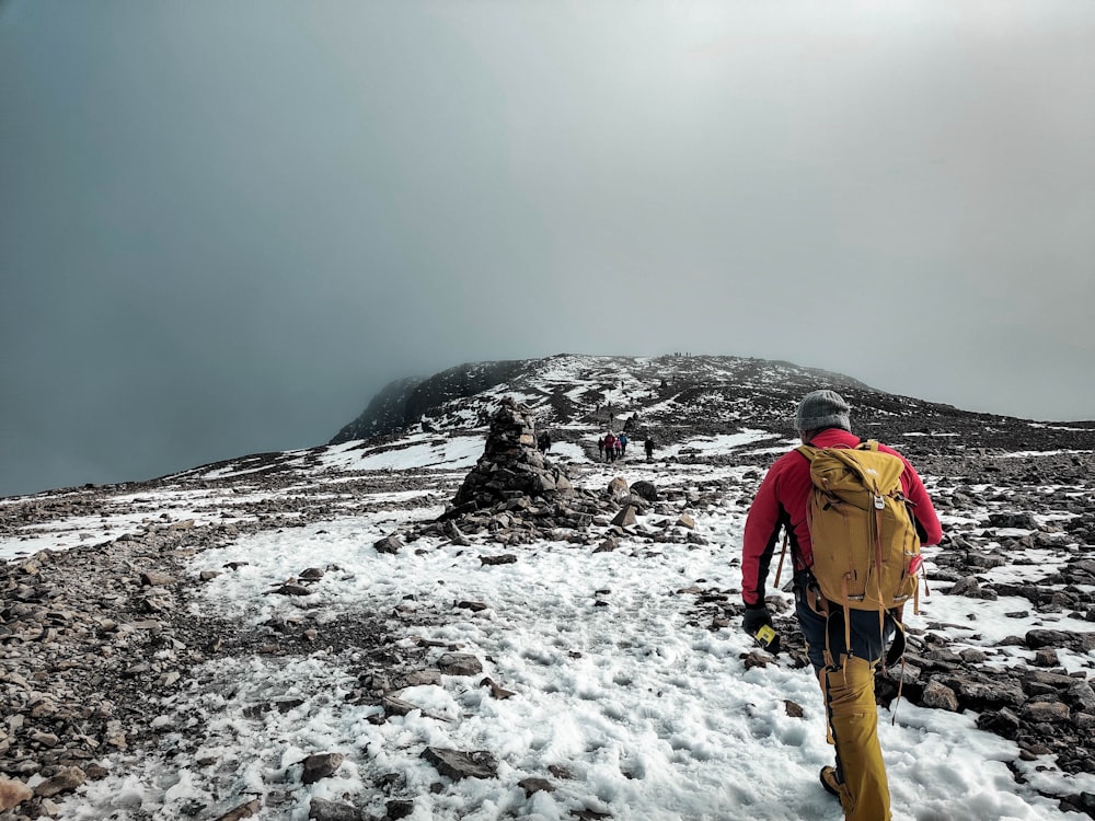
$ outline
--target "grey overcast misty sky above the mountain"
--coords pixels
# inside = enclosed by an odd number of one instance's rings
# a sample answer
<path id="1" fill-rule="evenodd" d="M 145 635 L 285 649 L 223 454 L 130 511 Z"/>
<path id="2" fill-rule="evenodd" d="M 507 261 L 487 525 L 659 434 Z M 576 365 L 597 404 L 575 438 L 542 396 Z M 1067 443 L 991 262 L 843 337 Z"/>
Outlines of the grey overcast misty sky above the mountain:
<path id="1" fill-rule="evenodd" d="M 1092 0 L 0 0 L 0 494 L 673 350 L 1095 418 Z"/>

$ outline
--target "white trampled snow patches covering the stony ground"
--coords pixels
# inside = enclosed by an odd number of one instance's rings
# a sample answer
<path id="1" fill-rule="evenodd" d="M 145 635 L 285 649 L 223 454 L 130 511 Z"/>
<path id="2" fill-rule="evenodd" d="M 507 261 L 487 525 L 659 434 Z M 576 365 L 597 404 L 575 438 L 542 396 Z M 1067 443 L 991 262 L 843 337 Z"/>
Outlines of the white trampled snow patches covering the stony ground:
<path id="1" fill-rule="evenodd" d="M 771 437 L 745 431 L 678 450 L 745 451 L 763 439 Z M 454 486 L 481 448 L 482 440 L 439 442 L 424 435 L 383 452 L 338 446 L 301 470 L 326 475 L 430 467 L 449 471 Z M 753 648 L 737 623 L 711 629 L 693 618 L 698 590 L 726 591 L 736 600 L 740 588 L 745 502 L 756 487 L 744 478 L 745 469 L 648 464 L 637 453 L 602 465 L 573 444 L 556 446 L 555 456 L 579 471 L 583 486 L 600 488 L 622 475 L 629 482 L 698 488 L 721 479 L 738 490 L 691 511 L 705 545 L 623 540 L 613 552 L 593 553 L 566 542 L 504 547 L 481 539 L 460 547 L 427 539 L 397 555 L 379 554 L 370 546 L 377 539 L 400 523 L 433 519 L 441 507 L 423 498 L 420 508 L 381 511 L 378 498 L 376 513 L 263 531 L 201 552 L 191 559 L 194 577 L 246 564 L 197 588 L 195 617 L 215 614 L 258 625 L 307 609 L 331 622 L 400 608 L 401 640 L 437 643 L 437 655 L 459 648 L 477 657 L 484 671 L 411 687 L 401 697 L 420 709 L 374 724 L 369 719 L 379 707 L 345 698 L 359 686 L 362 660 L 334 656 L 320 647 L 322 640 L 314 654 L 289 663 L 261 656 L 209 663 L 162 703 L 157 719 L 161 750 L 112 753 L 108 768 L 124 775 L 85 785 L 64 803 L 64 818 L 123 821 L 138 808 L 157 818 L 182 818 L 204 805 L 198 817 L 212 819 L 256 795 L 267 808 L 263 818 L 304 821 L 312 797 L 355 803 L 380 817 L 391 796 L 378 782 L 396 774 L 397 795 L 413 798 L 408 818 L 415 821 L 564 821 L 579 811 L 629 821 L 841 819 L 839 803 L 817 780 L 819 768 L 832 761 L 832 749 L 826 744 L 820 694 L 810 672 L 792 669 L 784 658 L 747 670 L 744 657 Z M 192 492 L 168 487 L 140 498 L 149 514 L 171 511 L 175 520 L 226 521 L 218 500 L 203 493 L 196 499 Z M 414 495 L 403 500 L 408 498 Z M 223 509 L 239 499 L 238 486 L 222 500 Z M 0 556 L 70 546 L 73 539 L 105 541 L 132 524 L 131 518 L 104 511 L 25 542 L 0 543 Z M 516 553 L 517 562 L 480 560 L 497 553 Z M 1036 553 L 1031 550 L 1030 557 Z M 328 568 L 313 595 L 263 594 L 308 567 Z M 456 608 L 460 601 L 486 608 Z M 948 636 L 986 648 L 1036 626 L 1090 628 L 1064 614 L 1007 615 L 1026 609 L 1015 600 L 936 592 L 925 601 L 924 613 L 909 621 L 919 628 L 930 621 L 975 624 L 976 633 L 955 627 Z M 438 612 L 448 614 L 440 623 L 427 617 Z M 1060 655 L 1070 670 L 1090 673 L 1095 664 L 1091 654 Z M 993 658 L 990 663 L 1005 660 Z M 493 697 L 481 685 L 485 677 L 514 695 Z M 285 713 L 245 712 L 288 698 L 301 703 Z M 787 701 L 803 708 L 803 717 L 788 710 Z M 1095 777 L 1068 776 L 1045 759 L 1023 764 L 1027 780 L 1017 784 L 1005 764 L 1018 760 L 1015 744 L 978 730 L 975 714 L 908 702 L 896 706 L 896 714 L 879 709 L 879 733 L 898 821 L 1083 818 L 1061 812 L 1038 790 L 1095 791 Z M 199 749 L 177 744 L 198 726 L 207 736 Z M 427 745 L 489 751 L 499 762 L 498 775 L 448 783 L 420 758 Z M 320 752 L 346 759 L 334 776 L 302 786 L 299 763 Z M 554 791 L 527 795 L 518 784 L 529 777 L 548 779 Z M 445 788 L 433 791 L 439 782 Z"/>

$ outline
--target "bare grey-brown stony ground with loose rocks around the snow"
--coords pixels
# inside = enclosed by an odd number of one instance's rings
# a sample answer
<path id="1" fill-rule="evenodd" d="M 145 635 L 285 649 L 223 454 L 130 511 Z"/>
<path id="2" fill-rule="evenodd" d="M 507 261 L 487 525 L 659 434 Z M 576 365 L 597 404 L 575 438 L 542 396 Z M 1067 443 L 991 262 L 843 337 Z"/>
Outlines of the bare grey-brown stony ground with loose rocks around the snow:
<path id="1" fill-rule="evenodd" d="M 511 432 L 519 439 L 520 425 Z M 1058 438 L 1057 444 L 1067 447 L 1068 437 Z M 978 712 L 979 726 L 1015 740 L 1024 758 L 1050 753 L 1067 772 L 1095 773 L 1095 462 L 1091 452 L 1008 456 L 1007 452 L 1023 449 L 1024 442 L 1001 444 L 1006 447 L 960 453 L 924 448 L 911 453 L 922 473 L 937 477 L 932 489 L 941 512 L 965 522 L 948 528 L 943 545 L 932 552 L 930 581 L 937 594 L 986 600 L 1019 597 L 1029 612 L 1072 613 L 1092 629 L 1034 629 L 1010 637 L 1002 644 L 1036 651 L 1035 661 L 1001 669 L 987 663 L 994 656 L 993 648 L 955 649 L 930 626 L 911 637 L 903 671 L 895 668 L 886 673 L 879 697 L 888 703 L 902 682 L 901 697 L 915 704 Z M 507 447 L 504 443 L 495 451 Z M 759 482 L 761 469 L 747 475 L 747 481 Z M 370 492 L 431 490 L 447 498 L 456 493 L 473 501 L 453 508 L 417 533 L 401 534 L 404 541 L 422 532 L 452 540 L 488 532 L 514 550 L 561 533 L 604 550 L 612 550 L 613 539 L 624 535 L 655 540 L 656 535 L 631 530 L 636 510 L 656 509 L 676 518 L 702 501 L 694 488 L 684 486 L 630 488 L 623 483 L 590 490 L 581 489 L 581 476 L 567 478 L 542 463 L 541 472 L 533 477 L 539 483 L 534 490 L 527 485 L 517 490 L 488 487 L 489 476 L 497 475 L 493 470 L 482 472 L 483 481 L 474 487 L 458 487 L 459 476 L 439 478 L 436 473 L 415 471 L 372 474 L 358 481 Z M 529 481 L 528 465 L 515 473 L 521 474 L 521 482 Z M 353 516 L 355 506 L 361 510 L 368 505 L 367 495 L 357 500 L 353 487 L 339 501 L 332 501 L 301 487 L 300 476 L 273 471 L 250 476 L 247 486 L 253 489 L 257 482 L 263 490 L 241 495 L 233 509 L 234 481 L 206 483 L 218 490 L 222 516 L 235 519 L 230 524 L 195 527 L 192 520 L 172 520 L 142 507 L 141 489 L 151 490 L 154 483 L 58 492 L 9 500 L 0 507 L 0 534 L 4 536 L 60 519 L 103 517 L 116 512 L 118 506 L 128 506 L 141 520 L 108 542 L 46 551 L 0 566 L 0 694 L 5 706 L 0 724 L 0 795 L 7 794 L 7 800 L 18 805 L 0 813 L 0 819 L 59 817 L 67 793 L 105 774 L 100 763 L 105 752 L 154 743 L 159 730 L 150 717 L 159 710 L 153 704 L 193 686 L 194 671 L 211 658 L 302 656 L 318 646 L 333 652 L 353 649 L 367 659 L 361 664 L 361 687 L 355 694 L 362 699 L 382 699 L 397 690 L 401 677 L 422 670 L 425 649 L 416 655 L 405 645 L 396 646 L 402 637 L 397 613 L 364 613 L 357 621 L 324 625 L 302 615 L 295 623 L 258 628 L 194 617 L 189 600 L 201 579 L 185 573 L 188 558 L 242 533 Z M 714 483 L 705 485 L 703 493 L 714 499 L 731 489 L 742 490 Z M 401 546 L 391 545 L 393 550 Z M 987 578 L 992 568 L 1021 566 L 1024 551 L 1030 547 L 1050 551 L 1058 564 L 1051 571 L 1022 567 L 1019 582 Z M 307 587 L 309 574 L 324 571 L 309 568 L 270 594 L 298 594 Z M 736 591 L 700 590 L 692 616 L 718 629 L 734 626 L 739 612 Z M 779 621 L 786 652 L 805 663 L 789 614 Z M 975 632 L 977 624 L 961 627 Z M 1068 672 L 1058 658 L 1065 650 L 1086 657 L 1087 669 Z M 756 663 L 765 663 L 763 655 L 758 655 Z M 385 672 L 378 675 L 378 670 Z M 287 706 L 270 703 L 256 708 Z M 44 779 L 30 790 L 24 782 L 35 774 Z M 1017 771 L 1016 778 L 1022 778 Z M 1057 798 L 1062 809 L 1095 818 L 1095 795 Z M 390 808 L 391 818 L 401 817 L 399 807 Z M 251 810 L 241 807 L 222 821 L 249 814 Z M 315 816 L 338 817 L 337 810 L 322 807 Z"/>

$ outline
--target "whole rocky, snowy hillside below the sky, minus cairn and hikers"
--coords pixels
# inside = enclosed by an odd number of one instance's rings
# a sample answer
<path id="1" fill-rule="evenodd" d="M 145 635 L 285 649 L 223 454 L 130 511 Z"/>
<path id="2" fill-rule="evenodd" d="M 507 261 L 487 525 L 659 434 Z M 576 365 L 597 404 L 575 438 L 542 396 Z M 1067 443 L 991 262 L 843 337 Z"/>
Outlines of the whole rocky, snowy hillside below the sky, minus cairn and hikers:
<path id="1" fill-rule="evenodd" d="M 0 777 L 35 794 L 0 818 L 840 819 L 789 595 L 779 657 L 739 626 L 746 510 L 822 374 L 522 368 L 377 440 L 0 499 Z M 895 819 L 1095 817 L 1091 427 L 840 390 L 947 532 L 879 706 Z M 505 397 L 574 498 L 438 522 Z M 598 461 L 627 419 L 654 459 Z M 625 524 L 618 477 L 657 489 Z"/>

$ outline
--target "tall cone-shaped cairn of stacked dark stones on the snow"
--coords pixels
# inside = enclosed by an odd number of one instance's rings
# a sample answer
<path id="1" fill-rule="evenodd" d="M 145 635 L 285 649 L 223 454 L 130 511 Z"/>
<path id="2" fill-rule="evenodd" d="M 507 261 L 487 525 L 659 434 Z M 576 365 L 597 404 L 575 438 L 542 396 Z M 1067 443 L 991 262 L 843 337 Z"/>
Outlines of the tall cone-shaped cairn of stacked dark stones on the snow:
<path id="1" fill-rule="evenodd" d="M 537 450 L 528 408 L 507 397 L 491 418 L 486 449 L 457 490 L 453 504 L 474 510 L 522 496 L 556 499 L 573 494 L 566 471 Z"/>

